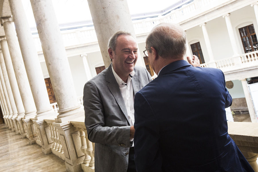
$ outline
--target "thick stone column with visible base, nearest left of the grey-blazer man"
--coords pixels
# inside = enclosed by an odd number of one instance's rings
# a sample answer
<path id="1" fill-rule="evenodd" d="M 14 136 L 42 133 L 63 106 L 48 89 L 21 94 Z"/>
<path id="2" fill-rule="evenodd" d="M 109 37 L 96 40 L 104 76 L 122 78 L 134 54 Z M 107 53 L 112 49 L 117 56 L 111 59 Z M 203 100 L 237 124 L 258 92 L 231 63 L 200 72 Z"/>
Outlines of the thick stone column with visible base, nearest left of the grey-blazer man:
<path id="1" fill-rule="evenodd" d="M 84 116 L 77 100 L 64 43 L 51 1 L 30 0 L 59 115 L 56 122 Z"/>

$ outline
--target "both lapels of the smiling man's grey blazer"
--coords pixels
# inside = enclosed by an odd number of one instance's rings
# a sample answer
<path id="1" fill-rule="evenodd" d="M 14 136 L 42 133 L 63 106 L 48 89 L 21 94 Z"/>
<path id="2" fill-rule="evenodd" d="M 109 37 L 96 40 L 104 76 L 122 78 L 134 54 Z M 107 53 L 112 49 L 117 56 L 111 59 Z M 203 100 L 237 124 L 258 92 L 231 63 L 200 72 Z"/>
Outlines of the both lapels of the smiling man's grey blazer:
<path id="1" fill-rule="evenodd" d="M 128 114 L 127 114 L 127 111 L 126 111 L 126 106 L 125 106 L 125 103 L 124 103 L 124 99 L 122 97 L 122 94 L 121 94 L 120 89 L 118 87 L 117 81 L 116 81 L 116 79 L 114 77 L 114 74 L 112 72 L 111 65 L 112 65 L 112 63 L 109 65 L 109 67 L 107 68 L 107 71 L 106 71 L 107 87 L 110 90 L 110 92 L 112 93 L 112 95 L 114 96 L 114 98 L 116 99 L 116 102 L 118 103 L 120 109 L 122 110 L 122 112 L 124 113 L 127 121 L 130 124 Z M 135 70 L 134 70 L 134 72 L 135 72 L 135 74 L 132 77 L 132 87 L 133 87 L 134 95 L 135 95 L 135 93 L 140 91 L 140 86 L 139 86 L 137 73 L 136 73 Z"/>

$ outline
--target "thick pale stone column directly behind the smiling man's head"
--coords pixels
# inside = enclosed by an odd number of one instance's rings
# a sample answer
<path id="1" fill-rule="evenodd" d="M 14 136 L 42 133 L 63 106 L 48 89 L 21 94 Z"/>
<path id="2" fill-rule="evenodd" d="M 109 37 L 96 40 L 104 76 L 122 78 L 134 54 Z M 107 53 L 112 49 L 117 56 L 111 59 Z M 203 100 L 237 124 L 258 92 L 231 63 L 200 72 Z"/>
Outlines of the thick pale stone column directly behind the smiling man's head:
<path id="1" fill-rule="evenodd" d="M 111 63 L 107 52 L 109 38 L 119 30 L 130 32 L 136 38 L 128 4 L 126 0 L 112 0 L 112 2 L 108 0 L 88 0 L 88 4 L 99 48 L 107 68 Z M 138 60 L 140 61 L 140 59 Z"/>

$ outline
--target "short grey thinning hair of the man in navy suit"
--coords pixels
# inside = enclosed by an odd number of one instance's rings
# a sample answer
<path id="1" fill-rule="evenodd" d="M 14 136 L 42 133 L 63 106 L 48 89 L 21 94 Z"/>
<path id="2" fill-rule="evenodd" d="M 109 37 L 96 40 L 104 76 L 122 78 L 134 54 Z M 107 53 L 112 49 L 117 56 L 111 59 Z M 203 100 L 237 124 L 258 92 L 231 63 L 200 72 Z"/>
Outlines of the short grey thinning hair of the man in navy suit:
<path id="1" fill-rule="evenodd" d="M 180 58 L 186 52 L 186 34 L 177 24 L 161 23 L 155 26 L 146 39 L 146 48 L 154 47 L 163 58 Z M 149 50 L 152 52 L 152 50 Z"/>

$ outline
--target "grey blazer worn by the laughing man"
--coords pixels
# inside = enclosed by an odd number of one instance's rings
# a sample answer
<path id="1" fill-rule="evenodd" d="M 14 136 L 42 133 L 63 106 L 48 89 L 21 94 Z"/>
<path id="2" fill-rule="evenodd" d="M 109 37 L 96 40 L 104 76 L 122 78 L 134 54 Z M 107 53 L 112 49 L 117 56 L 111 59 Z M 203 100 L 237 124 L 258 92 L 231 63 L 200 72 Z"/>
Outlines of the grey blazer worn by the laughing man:
<path id="1" fill-rule="evenodd" d="M 135 94 L 152 79 L 143 67 L 134 67 L 134 72 Z M 126 172 L 130 124 L 111 64 L 85 84 L 83 106 L 88 138 L 95 142 L 95 172 Z"/>

